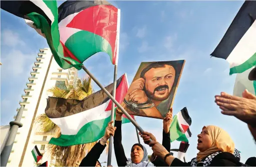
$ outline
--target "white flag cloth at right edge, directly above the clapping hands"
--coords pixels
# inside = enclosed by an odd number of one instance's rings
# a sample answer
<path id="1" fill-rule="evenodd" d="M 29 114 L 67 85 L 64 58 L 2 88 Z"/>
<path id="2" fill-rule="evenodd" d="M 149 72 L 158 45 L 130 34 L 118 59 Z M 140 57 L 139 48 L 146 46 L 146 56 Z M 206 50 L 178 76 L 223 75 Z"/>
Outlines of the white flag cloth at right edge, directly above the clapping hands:
<path id="1" fill-rule="evenodd" d="M 255 95 L 254 82 L 248 79 L 248 75 L 253 69 L 254 67 L 243 73 L 237 74 L 233 95 L 242 97 L 242 93 L 245 89 Z"/>

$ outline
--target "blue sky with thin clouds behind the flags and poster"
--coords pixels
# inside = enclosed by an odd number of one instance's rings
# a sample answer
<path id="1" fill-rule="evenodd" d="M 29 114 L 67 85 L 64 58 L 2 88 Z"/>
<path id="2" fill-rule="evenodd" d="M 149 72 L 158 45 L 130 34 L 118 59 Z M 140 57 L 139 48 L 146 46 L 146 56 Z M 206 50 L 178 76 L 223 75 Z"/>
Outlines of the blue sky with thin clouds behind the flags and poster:
<path id="1" fill-rule="evenodd" d="M 58 1 L 58 5 L 62 2 Z M 126 73 L 131 83 L 144 61 L 186 60 L 173 104 L 174 115 L 187 107 L 192 118 L 186 160 L 196 157 L 197 135 L 207 125 L 219 126 L 230 134 L 241 151 L 241 162 L 255 157 L 256 144 L 247 125 L 235 117 L 222 115 L 214 102 L 214 96 L 222 91 L 233 93 L 236 75 L 229 75 L 226 60 L 210 56 L 244 1 L 111 2 L 121 9 L 118 78 Z M 0 125 L 7 125 L 19 107 L 38 49 L 47 47 L 47 43 L 21 18 L 3 10 L 0 18 Z M 97 53 L 83 64 L 103 85 L 113 82 L 114 66 L 107 54 Z M 86 76 L 82 70 L 78 74 Z M 95 83 L 93 88 L 99 90 Z M 136 120 L 144 131 L 162 142 L 162 120 L 143 117 Z M 125 124 L 122 131 L 124 150 L 130 158 L 132 145 L 138 143 L 135 127 Z M 173 142 L 171 148 L 178 149 L 179 144 Z M 152 149 L 146 148 L 152 154 Z M 107 160 L 105 152 L 99 160 Z M 112 165 L 117 165 L 114 154 Z"/>

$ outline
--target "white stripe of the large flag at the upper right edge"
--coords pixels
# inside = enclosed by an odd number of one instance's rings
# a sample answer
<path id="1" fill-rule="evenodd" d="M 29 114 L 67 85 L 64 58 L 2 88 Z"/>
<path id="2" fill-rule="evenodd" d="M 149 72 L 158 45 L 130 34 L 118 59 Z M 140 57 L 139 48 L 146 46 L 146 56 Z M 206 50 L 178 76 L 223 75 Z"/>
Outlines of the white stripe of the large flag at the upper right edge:
<path id="1" fill-rule="evenodd" d="M 248 29 L 227 58 L 227 61 L 230 63 L 230 68 L 243 64 L 255 53 L 256 21 L 254 21 L 253 25 Z"/>

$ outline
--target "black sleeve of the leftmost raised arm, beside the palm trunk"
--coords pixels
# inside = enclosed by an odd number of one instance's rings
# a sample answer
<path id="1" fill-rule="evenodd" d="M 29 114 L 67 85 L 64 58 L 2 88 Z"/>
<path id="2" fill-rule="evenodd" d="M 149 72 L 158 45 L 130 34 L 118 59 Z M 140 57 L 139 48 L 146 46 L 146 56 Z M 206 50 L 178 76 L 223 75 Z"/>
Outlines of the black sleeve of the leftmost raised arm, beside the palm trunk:
<path id="1" fill-rule="evenodd" d="M 101 153 L 104 151 L 106 145 L 102 146 L 99 142 L 93 146 L 91 151 L 85 156 L 79 167 L 95 167 Z"/>

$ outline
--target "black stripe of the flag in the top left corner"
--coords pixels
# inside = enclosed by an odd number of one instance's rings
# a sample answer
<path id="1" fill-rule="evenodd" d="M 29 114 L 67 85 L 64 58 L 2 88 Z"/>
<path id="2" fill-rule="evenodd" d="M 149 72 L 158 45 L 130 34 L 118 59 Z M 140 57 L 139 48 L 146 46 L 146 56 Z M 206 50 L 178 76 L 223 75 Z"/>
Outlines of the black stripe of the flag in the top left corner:
<path id="1" fill-rule="evenodd" d="M 44 11 L 30 0 L 1 0 L 0 6 L 1 9 L 25 19 L 29 19 L 25 16 L 26 14 L 36 12 L 46 18 L 49 26 L 51 26 L 51 20 L 47 17 Z"/>

